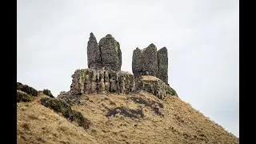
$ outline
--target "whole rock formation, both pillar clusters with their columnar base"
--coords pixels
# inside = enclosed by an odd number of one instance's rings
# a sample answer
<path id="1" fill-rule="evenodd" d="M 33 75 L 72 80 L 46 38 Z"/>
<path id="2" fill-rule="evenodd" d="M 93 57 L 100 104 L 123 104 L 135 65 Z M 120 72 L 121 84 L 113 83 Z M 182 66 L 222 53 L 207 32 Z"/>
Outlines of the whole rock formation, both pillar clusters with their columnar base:
<path id="1" fill-rule="evenodd" d="M 157 50 L 154 44 L 143 50 L 136 48 L 133 54 L 134 74 L 121 70 L 120 44 L 110 34 L 97 42 L 90 33 L 87 43 L 88 69 L 76 70 L 72 75 L 70 92 L 74 95 L 90 93 L 130 94 L 145 90 L 158 98 L 174 95 L 168 84 L 168 54 L 166 47 Z M 145 75 L 153 79 L 143 78 Z"/>

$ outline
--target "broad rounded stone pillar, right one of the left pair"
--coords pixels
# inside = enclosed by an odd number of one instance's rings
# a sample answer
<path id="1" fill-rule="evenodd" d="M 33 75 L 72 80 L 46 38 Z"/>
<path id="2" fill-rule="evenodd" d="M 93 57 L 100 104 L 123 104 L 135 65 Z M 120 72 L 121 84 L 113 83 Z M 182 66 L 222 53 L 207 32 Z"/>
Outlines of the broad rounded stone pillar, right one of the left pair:
<path id="1" fill-rule="evenodd" d="M 112 35 L 107 34 L 99 41 L 98 46 L 101 53 L 102 67 L 115 71 L 121 70 L 122 52 L 119 42 Z"/>

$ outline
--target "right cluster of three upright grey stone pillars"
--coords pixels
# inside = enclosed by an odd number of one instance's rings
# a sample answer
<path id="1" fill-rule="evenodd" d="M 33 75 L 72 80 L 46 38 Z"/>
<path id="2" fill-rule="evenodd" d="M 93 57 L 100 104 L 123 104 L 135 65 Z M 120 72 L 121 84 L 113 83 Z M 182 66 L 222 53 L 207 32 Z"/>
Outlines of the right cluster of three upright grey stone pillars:
<path id="1" fill-rule="evenodd" d="M 143 50 L 134 50 L 132 70 L 136 78 L 152 75 L 168 83 L 168 53 L 166 47 L 157 51 L 153 43 Z"/>

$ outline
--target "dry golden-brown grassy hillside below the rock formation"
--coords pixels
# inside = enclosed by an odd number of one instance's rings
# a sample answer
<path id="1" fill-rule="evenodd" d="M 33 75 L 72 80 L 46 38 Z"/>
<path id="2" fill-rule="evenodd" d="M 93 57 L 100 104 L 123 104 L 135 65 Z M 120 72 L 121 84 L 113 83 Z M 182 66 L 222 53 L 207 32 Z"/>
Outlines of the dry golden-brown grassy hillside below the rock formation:
<path id="1" fill-rule="evenodd" d="M 238 143 L 178 97 L 151 94 L 88 94 L 72 106 L 92 122 L 89 129 L 33 102 L 17 103 L 18 143 Z"/>

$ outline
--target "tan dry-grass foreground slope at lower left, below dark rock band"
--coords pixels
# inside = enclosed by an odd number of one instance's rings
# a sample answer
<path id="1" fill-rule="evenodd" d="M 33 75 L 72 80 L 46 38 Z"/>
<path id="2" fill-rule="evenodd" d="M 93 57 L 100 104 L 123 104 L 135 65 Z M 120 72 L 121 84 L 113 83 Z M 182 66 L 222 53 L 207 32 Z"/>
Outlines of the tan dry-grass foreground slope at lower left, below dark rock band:
<path id="1" fill-rule="evenodd" d="M 98 143 L 80 126 L 38 101 L 17 103 L 18 143 Z"/>

